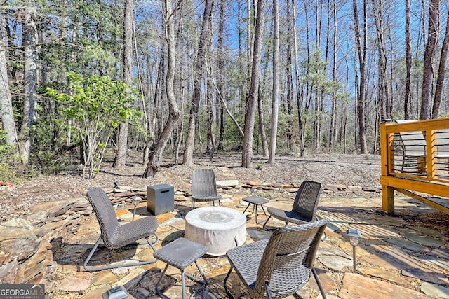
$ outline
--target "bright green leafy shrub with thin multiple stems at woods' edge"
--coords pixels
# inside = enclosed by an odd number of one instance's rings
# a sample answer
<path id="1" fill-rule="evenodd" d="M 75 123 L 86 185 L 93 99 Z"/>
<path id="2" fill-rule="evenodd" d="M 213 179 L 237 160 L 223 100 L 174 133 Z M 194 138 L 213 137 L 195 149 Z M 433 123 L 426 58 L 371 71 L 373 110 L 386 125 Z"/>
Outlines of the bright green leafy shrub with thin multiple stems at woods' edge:
<path id="1" fill-rule="evenodd" d="M 72 120 L 81 139 L 83 177 L 92 179 L 100 165 L 114 129 L 130 117 L 133 93 L 128 85 L 106 76 L 81 76 L 70 72 L 70 92 L 46 88 L 47 95 L 57 99 L 62 112 Z"/>

